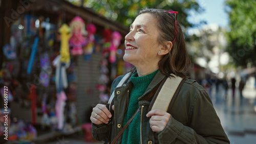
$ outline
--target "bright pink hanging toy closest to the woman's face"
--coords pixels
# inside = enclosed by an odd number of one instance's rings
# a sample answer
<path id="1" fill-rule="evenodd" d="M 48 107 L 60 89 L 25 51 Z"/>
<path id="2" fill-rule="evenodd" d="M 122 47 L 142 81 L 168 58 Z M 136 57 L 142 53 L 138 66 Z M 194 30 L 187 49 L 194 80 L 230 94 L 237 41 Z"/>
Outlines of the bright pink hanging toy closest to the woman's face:
<path id="1" fill-rule="evenodd" d="M 111 63 L 114 63 L 116 61 L 116 51 L 117 51 L 118 45 L 120 44 L 121 38 L 122 38 L 121 34 L 118 33 L 117 31 L 112 33 L 111 46 L 109 47 L 109 51 L 110 51 L 109 61 Z"/>

